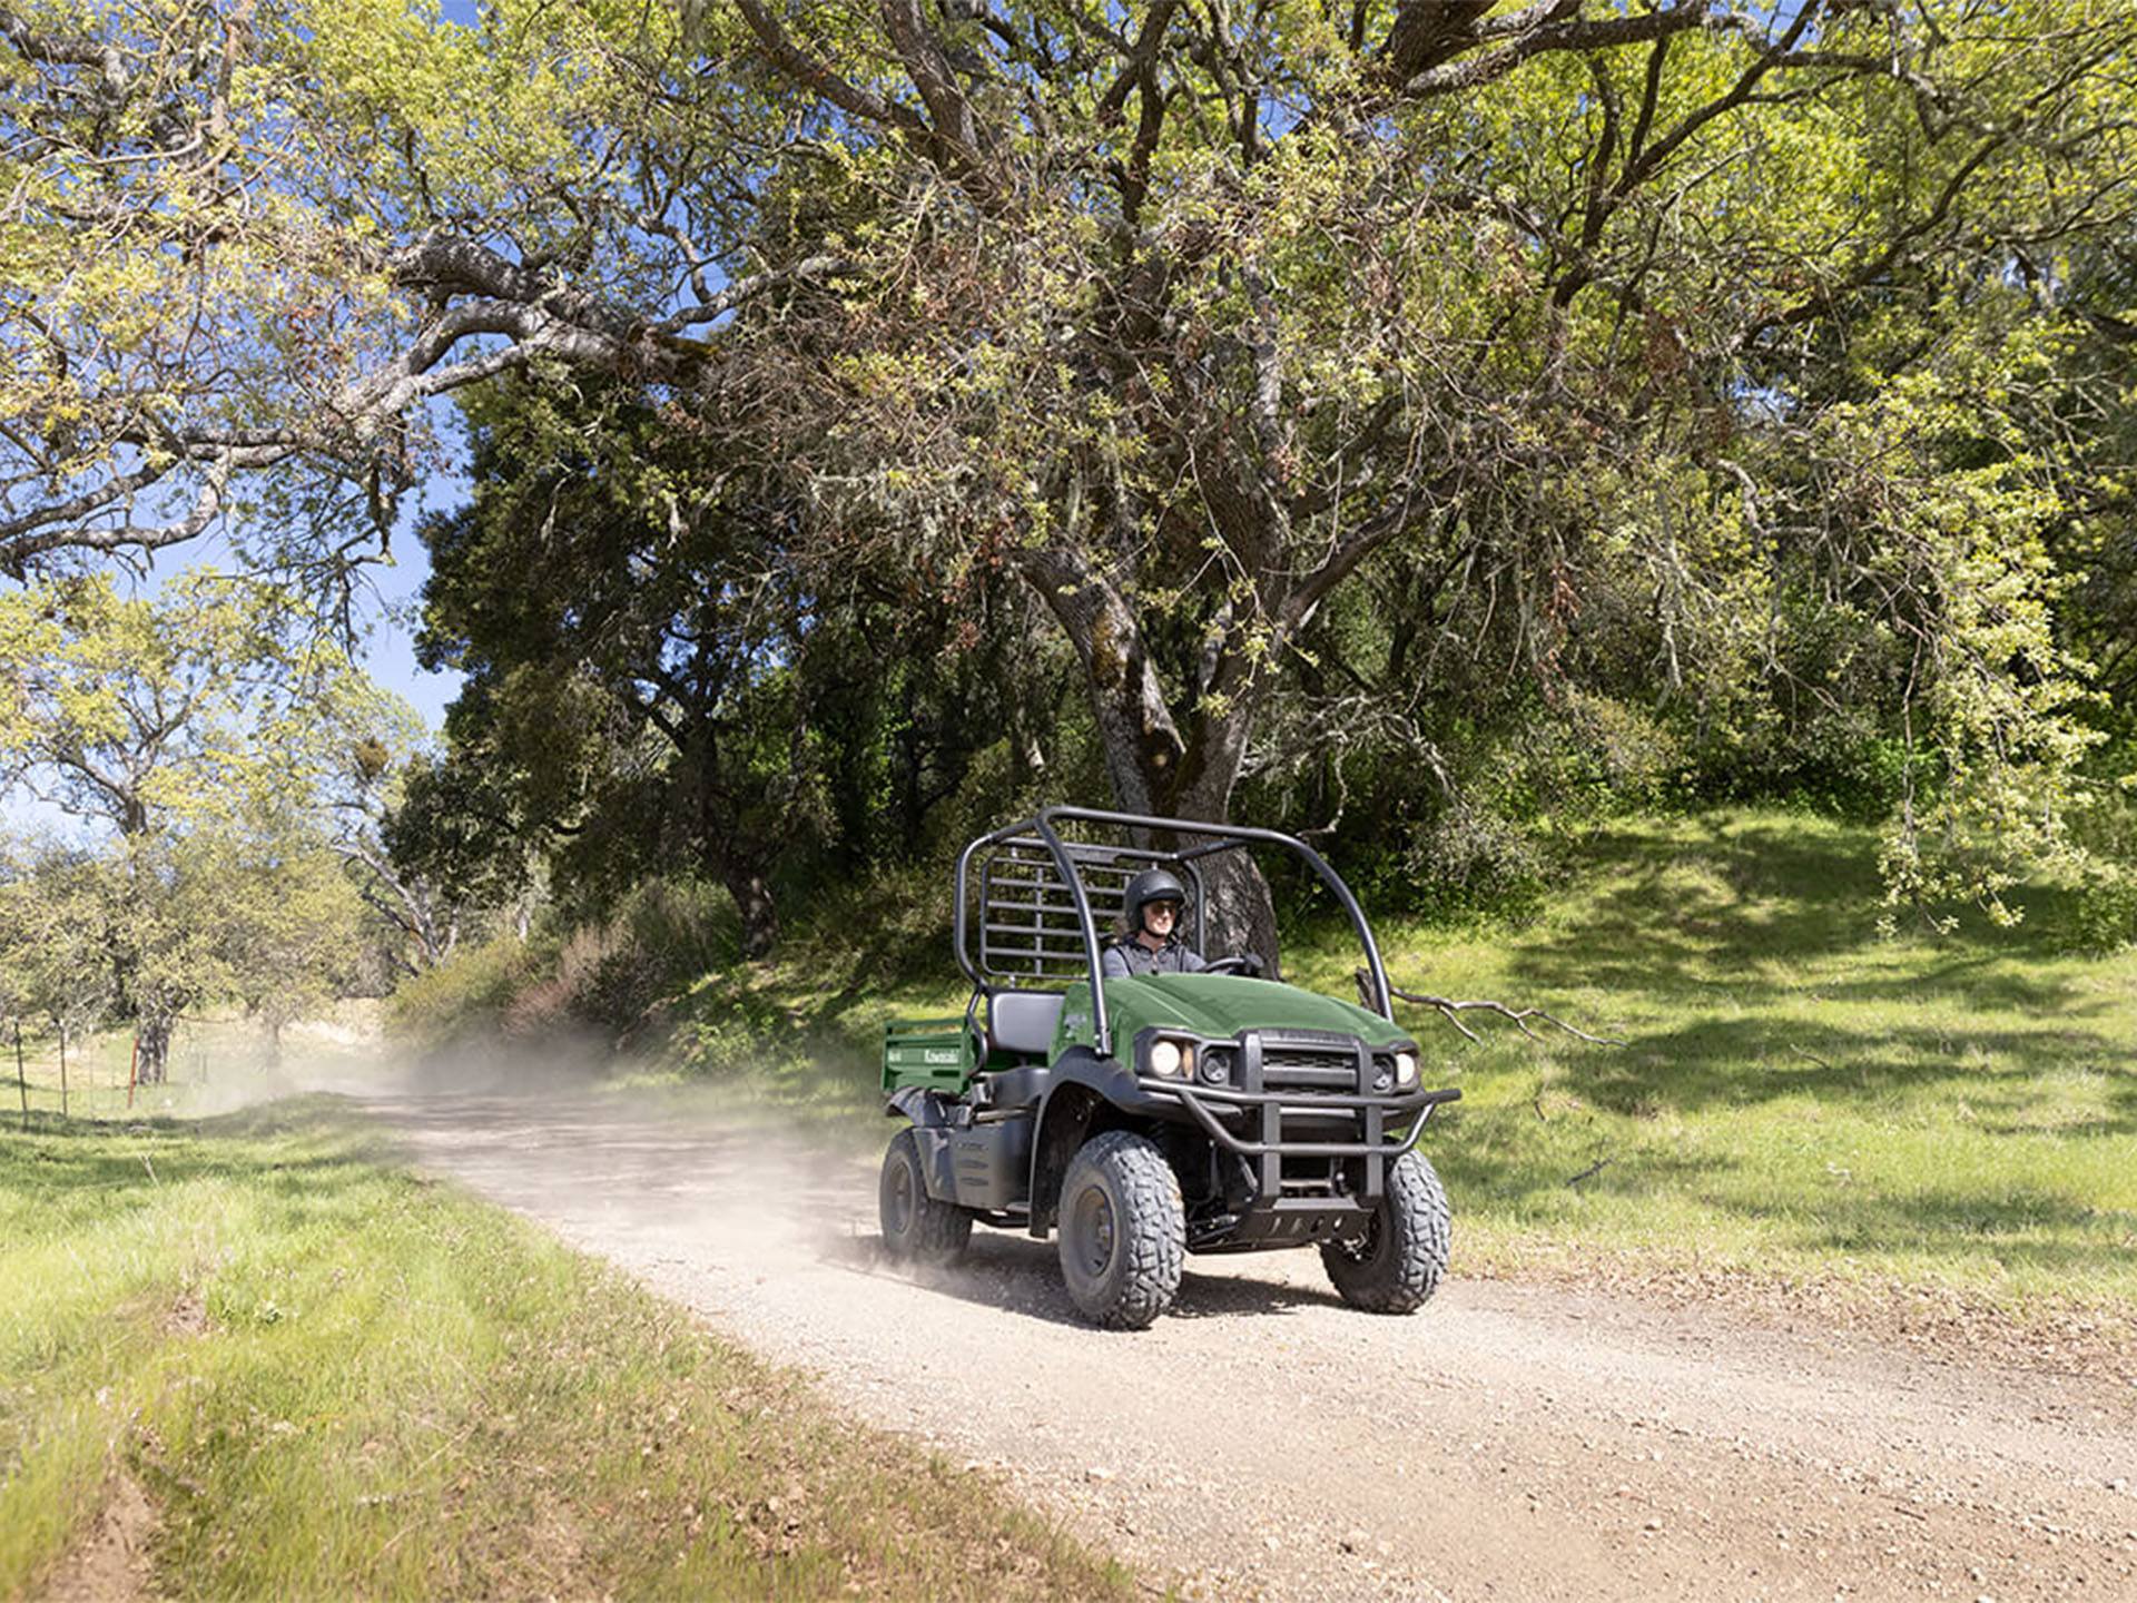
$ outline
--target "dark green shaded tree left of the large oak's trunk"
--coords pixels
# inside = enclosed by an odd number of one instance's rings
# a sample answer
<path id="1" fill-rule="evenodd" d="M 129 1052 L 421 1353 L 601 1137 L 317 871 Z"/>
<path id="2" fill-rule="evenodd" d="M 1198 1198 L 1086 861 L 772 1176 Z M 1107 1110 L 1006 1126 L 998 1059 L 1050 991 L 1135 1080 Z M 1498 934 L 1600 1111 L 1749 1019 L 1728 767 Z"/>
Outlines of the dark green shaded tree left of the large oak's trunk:
<path id="1" fill-rule="evenodd" d="M 1039 722 L 1004 586 L 964 581 L 960 616 L 821 566 L 776 474 L 630 395 L 509 385 L 470 417 L 474 500 L 423 528 L 423 650 L 468 684 L 395 821 L 402 866 L 466 876 L 534 840 L 598 921 L 688 863 L 761 955 L 780 893 L 908 855 L 977 754 Z"/>

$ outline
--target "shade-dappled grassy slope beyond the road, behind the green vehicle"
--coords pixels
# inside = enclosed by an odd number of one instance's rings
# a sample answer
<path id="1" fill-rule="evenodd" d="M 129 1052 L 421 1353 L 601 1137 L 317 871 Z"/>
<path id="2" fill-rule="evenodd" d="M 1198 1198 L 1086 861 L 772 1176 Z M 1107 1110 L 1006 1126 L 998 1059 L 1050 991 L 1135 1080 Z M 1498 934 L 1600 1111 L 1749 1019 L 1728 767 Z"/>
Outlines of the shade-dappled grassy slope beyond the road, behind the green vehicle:
<path id="1" fill-rule="evenodd" d="M 2137 1312 L 2137 953 L 1876 932 L 1874 838 L 1778 812 L 1586 842 L 1534 921 L 1383 923 L 1393 981 L 1534 1005 L 1624 1041 L 1526 1041 L 1398 1007 L 1464 1101 L 1425 1139 L 1464 1272 L 1908 1287 L 2039 1321 Z M 1351 994 L 1346 934 L 1286 966 Z M 705 981 L 667 1069 L 880 1139 L 876 1030 L 964 1007 L 947 943 L 887 987 L 827 938 Z M 925 972 L 925 979 L 912 975 Z"/>

